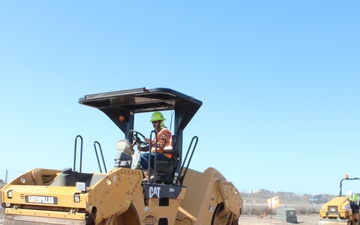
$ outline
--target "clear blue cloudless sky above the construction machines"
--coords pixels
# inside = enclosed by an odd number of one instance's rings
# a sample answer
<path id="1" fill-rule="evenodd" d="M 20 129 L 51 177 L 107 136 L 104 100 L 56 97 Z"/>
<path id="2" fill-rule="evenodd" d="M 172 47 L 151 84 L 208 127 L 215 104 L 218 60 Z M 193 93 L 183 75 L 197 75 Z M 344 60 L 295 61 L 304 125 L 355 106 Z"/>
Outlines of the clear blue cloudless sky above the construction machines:
<path id="1" fill-rule="evenodd" d="M 337 194 L 360 177 L 360 2 L 1 1 L 0 179 L 108 169 L 124 134 L 86 94 L 167 87 L 201 100 L 190 167 L 239 190 Z M 136 125 L 150 134 L 148 119 Z M 360 182 L 344 183 L 360 192 Z"/>

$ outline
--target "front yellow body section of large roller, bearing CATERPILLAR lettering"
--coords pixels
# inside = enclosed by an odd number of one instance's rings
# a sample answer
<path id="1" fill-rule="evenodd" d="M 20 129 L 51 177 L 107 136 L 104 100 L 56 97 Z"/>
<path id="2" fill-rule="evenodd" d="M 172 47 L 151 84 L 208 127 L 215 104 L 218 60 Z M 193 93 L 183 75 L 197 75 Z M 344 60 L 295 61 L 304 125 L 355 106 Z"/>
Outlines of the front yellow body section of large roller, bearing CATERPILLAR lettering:
<path id="1" fill-rule="evenodd" d="M 111 215 L 125 212 L 135 194 L 143 199 L 139 170 L 119 168 L 106 174 L 91 174 L 88 176 L 91 180 L 84 182 L 91 186 L 84 190 L 79 190 L 78 185 L 58 185 L 60 173 L 49 185 L 33 185 L 31 180 L 27 184 L 26 178 L 33 172 L 25 173 L 2 189 L 2 205 L 7 216 L 85 220 L 96 214 L 92 220 L 100 224 Z"/>

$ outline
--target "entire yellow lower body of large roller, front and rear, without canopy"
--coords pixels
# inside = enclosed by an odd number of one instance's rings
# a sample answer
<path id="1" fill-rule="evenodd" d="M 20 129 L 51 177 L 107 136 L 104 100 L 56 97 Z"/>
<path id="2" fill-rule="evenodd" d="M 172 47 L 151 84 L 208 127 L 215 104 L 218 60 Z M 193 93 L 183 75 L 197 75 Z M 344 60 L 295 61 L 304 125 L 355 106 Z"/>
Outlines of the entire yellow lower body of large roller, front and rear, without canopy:
<path id="1" fill-rule="evenodd" d="M 27 179 L 34 171 L 52 171 L 54 180 L 36 185 Z M 165 198 L 165 203 L 158 195 L 171 186 L 142 186 L 139 170 L 119 168 L 92 174 L 93 183 L 88 181 L 92 185 L 85 191 L 78 185 L 58 186 L 61 176 L 58 170 L 35 169 L 6 185 L 1 202 L 7 219 L 17 221 L 7 224 L 145 225 L 158 224 L 161 218 L 176 225 L 237 224 L 242 208 L 240 193 L 214 168 L 204 173 L 189 169 L 184 187 L 176 198 Z M 145 188 L 153 198 L 144 195 Z"/>

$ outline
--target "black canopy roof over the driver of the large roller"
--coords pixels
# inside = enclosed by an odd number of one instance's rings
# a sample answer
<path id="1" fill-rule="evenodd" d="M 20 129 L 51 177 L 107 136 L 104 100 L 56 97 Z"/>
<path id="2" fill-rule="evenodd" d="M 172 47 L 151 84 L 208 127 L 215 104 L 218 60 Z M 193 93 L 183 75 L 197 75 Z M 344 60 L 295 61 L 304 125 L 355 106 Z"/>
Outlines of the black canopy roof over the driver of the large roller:
<path id="1" fill-rule="evenodd" d="M 138 88 L 85 95 L 79 103 L 103 111 L 126 135 L 134 127 L 134 114 L 175 111 L 175 132 L 185 129 L 202 102 L 168 88 Z"/>

